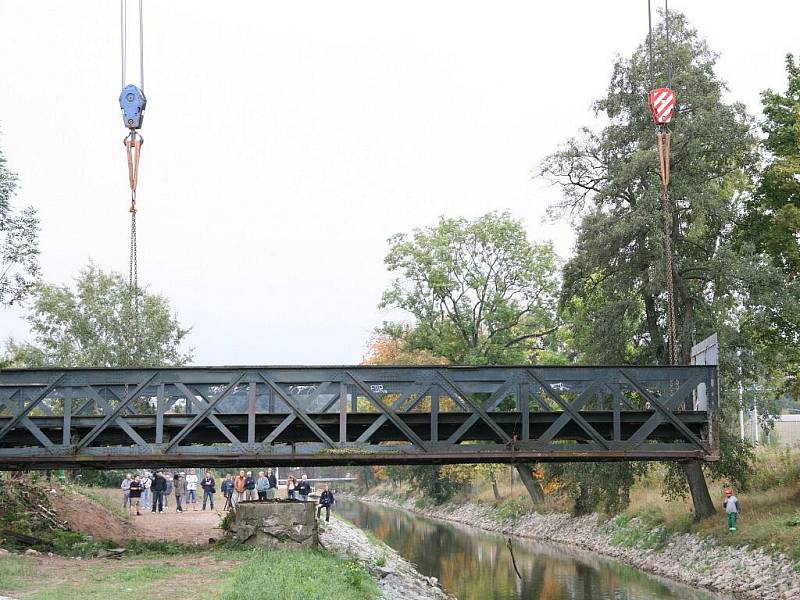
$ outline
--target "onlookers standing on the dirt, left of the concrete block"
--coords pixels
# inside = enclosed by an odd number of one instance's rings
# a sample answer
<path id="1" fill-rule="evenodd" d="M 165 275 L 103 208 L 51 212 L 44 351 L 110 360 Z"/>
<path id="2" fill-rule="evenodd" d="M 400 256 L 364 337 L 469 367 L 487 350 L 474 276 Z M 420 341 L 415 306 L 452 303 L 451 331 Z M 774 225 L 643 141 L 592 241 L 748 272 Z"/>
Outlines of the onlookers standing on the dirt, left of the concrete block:
<path id="1" fill-rule="evenodd" d="M 199 479 L 194 469 L 189 472 L 169 473 L 166 471 L 145 471 L 142 475 L 128 473 L 122 480 L 122 507 L 131 513 L 141 515 L 141 510 L 163 513 L 169 505 L 170 496 L 175 496 L 175 512 L 182 513 L 197 510 L 198 486 L 203 490 L 202 510 L 209 506 L 214 510 L 214 494 L 217 493 L 216 482 L 211 472 L 206 471 L 205 477 Z M 184 508 L 185 505 L 185 508 Z"/>

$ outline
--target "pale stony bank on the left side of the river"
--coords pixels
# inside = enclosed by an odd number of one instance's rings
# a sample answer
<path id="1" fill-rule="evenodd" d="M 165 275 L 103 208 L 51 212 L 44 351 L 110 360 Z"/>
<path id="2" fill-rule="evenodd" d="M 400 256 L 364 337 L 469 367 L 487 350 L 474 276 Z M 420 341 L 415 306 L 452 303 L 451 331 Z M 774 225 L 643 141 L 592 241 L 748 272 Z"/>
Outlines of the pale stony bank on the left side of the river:
<path id="1" fill-rule="evenodd" d="M 388 600 L 455 600 L 435 577 L 426 577 L 389 546 L 374 543 L 363 531 L 332 516 L 321 531 L 323 545 L 342 556 L 355 556 L 369 569 Z M 383 563 L 378 566 L 378 563 Z M 0 599 L 2 600 L 2 599 Z"/>

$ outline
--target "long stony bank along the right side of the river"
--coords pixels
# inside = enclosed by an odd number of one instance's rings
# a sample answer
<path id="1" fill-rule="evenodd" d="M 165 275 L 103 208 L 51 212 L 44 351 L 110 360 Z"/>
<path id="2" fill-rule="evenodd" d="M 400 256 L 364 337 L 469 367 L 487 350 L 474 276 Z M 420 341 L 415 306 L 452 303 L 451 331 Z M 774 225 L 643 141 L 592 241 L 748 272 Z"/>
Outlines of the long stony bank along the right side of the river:
<path id="1" fill-rule="evenodd" d="M 504 535 L 578 546 L 648 573 L 739 598 L 800 600 L 800 573 L 795 564 L 785 555 L 760 548 L 718 546 L 693 534 L 673 535 L 660 551 L 625 548 L 611 544 L 611 534 L 598 530 L 597 515 L 532 513 L 513 521 L 498 519 L 495 509 L 484 505 L 419 510 L 413 499 L 403 504 L 382 496 L 360 499 Z"/>

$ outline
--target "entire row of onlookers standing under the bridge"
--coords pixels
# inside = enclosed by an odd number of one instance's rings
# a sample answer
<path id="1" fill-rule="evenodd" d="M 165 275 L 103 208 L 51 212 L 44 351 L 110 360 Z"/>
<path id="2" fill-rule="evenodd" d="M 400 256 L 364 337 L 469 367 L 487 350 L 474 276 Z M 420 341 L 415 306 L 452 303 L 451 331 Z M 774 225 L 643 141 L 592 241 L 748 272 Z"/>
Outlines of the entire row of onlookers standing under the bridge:
<path id="1" fill-rule="evenodd" d="M 165 471 L 155 471 L 151 473 L 145 471 L 142 475 L 132 475 L 128 473 L 122 480 L 122 506 L 131 513 L 141 515 L 141 510 L 148 507 L 151 512 L 163 513 L 168 508 L 170 496 L 175 496 L 175 512 L 182 513 L 184 510 L 197 511 L 197 492 L 198 486 L 203 490 L 202 510 L 206 510 L 208 505 L 214 510 L 214 495 L 216 494 L 216 482 L 210 471 L 206 471 L 205 476 L 199 479 L 194 469 L 189 469 L 188 473 L 169 473 Z M 220 491 L 225 498 L 223 510 L 230 511 L 236 508 L 240 502 L 252 500 L 276 500 L 278 495 L 278 478 L 272 469 L 259 471 L 258 477 L 253 476 L 252 471 L 239 471 L 236 477 L 230 473 L 225 475 L 220 485 Z M 286 498 L 308 501 L 311 494 L 311 482 L 305 473 L 297 479 L 290 475 L 286 480 Z M 320 494 L 317 517 L 320 516 L 322 509 L 325 509 L 325 520 L 330 520 L 331 506 L 335 500 L 333 492 L 325 486 Z"/>

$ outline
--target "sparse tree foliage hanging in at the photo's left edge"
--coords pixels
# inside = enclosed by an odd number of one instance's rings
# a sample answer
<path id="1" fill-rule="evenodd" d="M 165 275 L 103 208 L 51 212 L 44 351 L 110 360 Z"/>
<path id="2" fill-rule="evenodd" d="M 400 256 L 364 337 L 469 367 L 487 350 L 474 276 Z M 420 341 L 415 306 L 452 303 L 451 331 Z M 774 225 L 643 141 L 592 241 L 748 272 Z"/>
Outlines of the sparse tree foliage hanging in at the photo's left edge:
<path id="1" fill-rule="evenodd" d="M 0 150 L 0 306 L 24 298 L 39 276 L 39 219 L 33 207 L 14 210 L 16 189 Z"/>

